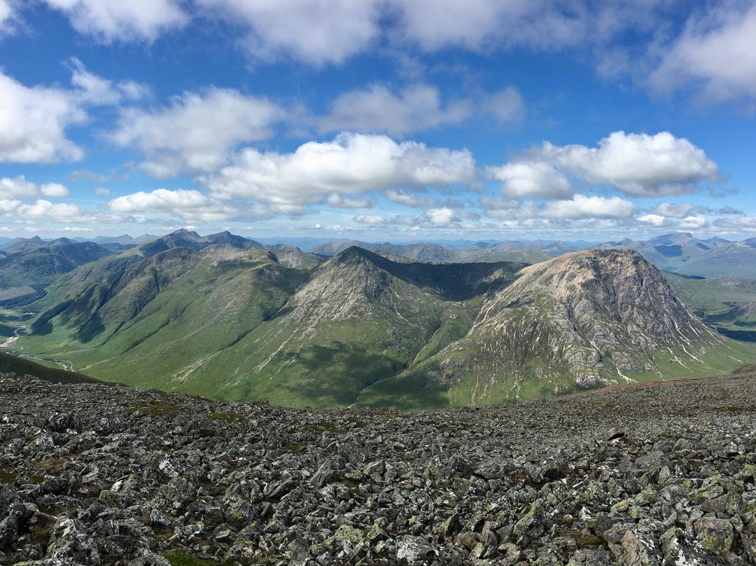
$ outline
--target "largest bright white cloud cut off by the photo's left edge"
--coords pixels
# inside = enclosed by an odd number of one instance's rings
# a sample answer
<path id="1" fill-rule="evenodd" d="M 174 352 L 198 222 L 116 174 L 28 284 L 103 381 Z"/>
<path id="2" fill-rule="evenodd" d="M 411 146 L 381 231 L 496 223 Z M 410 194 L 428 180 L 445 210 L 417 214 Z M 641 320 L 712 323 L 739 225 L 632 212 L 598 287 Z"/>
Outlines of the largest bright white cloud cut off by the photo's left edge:
<path id="1" fill-rule="evenodd" d="M 84 157 L 65 135 L 68 126 L 86 118 L 70 92 L 29 88 L 0 72 L 0 100 L 0 163 L 57 163 Z"/>

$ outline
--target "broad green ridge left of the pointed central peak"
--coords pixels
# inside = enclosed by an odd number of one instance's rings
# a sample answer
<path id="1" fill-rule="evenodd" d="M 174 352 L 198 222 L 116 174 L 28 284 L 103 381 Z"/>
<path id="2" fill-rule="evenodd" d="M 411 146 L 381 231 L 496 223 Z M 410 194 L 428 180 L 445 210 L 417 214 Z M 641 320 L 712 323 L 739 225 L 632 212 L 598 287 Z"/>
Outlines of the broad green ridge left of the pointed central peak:
<path id="1" fill-rule="evenodd" d="M 273 316 L 304 276 L 265 251 L 176 247 L 88 286 L 91 279 L 79 281 L 23 341 L 47 357 L 66 353 L 98 378 L 181 384 Z"/>

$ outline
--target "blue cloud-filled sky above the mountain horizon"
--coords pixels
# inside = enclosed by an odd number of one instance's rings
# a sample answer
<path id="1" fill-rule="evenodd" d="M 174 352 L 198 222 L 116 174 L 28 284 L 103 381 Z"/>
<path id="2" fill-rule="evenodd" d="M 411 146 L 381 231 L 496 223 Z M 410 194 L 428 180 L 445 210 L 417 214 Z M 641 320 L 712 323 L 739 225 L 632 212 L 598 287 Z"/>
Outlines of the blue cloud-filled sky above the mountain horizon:
<path id="1" fill-rule="evenodd" d="M 756 236 L 756 2 L 0 0 L 0 237 Z"/>

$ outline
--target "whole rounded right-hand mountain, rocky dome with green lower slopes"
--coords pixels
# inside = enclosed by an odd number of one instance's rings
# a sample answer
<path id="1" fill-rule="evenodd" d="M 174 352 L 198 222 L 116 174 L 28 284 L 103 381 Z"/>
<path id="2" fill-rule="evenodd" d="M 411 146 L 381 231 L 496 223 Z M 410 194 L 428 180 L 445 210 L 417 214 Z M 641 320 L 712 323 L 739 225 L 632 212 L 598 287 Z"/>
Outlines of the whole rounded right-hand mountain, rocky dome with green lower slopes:
<path id="1" fill-rule="evenodd" d="M 486 298 L 465 337 L 365 390 L 358 404 L 431 406 L 438 395 L 460 405 L 533 399 L 715 375 L 756 355 L 693 316 L 630 250 L 569 253 L 520 273 Z"/>

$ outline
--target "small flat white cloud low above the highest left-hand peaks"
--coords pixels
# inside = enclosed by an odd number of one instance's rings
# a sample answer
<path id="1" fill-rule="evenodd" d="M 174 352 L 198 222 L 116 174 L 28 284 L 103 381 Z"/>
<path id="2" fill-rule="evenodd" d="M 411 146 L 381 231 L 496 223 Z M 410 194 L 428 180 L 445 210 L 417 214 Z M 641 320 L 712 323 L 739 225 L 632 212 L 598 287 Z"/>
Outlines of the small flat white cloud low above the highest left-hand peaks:
<path id="1" fill-rule="evenodd" d="M 107 207 L 122 213 L 174 213 L 187 222 L 212 222 L 239 216 L 239 210 L 223 204 L 200 191 L 157 188 L 149 193 L 138 191 L 114 198 Z"/>

